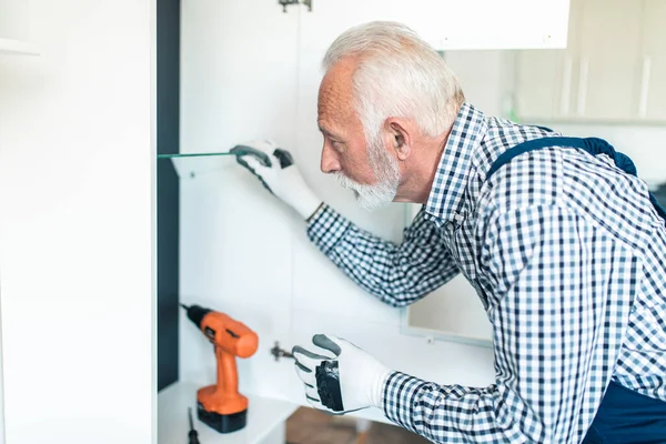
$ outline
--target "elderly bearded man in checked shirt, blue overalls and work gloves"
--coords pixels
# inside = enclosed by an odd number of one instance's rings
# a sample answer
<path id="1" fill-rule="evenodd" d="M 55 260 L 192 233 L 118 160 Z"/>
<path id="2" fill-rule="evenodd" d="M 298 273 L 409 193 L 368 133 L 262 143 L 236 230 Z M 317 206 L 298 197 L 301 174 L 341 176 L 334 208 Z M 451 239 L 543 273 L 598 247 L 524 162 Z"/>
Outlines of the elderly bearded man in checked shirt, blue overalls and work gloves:
<path id="1" fill-rule="evenodd" d="M 271 142 L 239 162 L 391 305 L 462 272 L 493 324 L 496 374 L 487 387 L 441 386 L 315 335 L 294 347 L 309 402 L 375 406 L 441 443 L 666 442 L 666 214 L 630 160 L 599 139 L 485 115 L 396 23 L 346 31 L 324 69 L 321 169 L 366 209 L 423 204 L 404 242 L 354 226 Z"/>

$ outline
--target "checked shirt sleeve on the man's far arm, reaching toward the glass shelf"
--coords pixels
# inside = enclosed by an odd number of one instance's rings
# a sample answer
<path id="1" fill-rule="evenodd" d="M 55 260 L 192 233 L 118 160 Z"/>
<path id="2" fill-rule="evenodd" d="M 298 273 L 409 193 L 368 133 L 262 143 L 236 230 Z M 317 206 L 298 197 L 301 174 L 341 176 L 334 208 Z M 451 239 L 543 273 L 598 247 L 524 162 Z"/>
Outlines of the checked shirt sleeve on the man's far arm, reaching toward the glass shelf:
<path id="1" fill-rule="evenodd" d="M 393 305 L 408 305 L 458 273 L 435 225 L 416 215 L 396 245 L 322 205 L 307 225 L 310 240 L 365 291 Z"/>

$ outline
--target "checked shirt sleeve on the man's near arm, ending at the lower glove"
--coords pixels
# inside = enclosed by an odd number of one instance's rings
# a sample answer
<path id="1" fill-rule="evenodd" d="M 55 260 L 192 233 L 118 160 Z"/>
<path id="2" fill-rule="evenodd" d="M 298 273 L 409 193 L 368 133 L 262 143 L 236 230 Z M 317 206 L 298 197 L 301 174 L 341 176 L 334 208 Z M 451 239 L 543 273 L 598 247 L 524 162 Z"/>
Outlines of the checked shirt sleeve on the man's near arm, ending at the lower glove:
<path id="1" fill-rule="evenodd" d="M 578 443 L 618 357 L 640 261 L 557 206 L 505 211 L 485 226 L 495 383 L 441 386 L 394 372 L 384 413 L 436 443 Z"/>

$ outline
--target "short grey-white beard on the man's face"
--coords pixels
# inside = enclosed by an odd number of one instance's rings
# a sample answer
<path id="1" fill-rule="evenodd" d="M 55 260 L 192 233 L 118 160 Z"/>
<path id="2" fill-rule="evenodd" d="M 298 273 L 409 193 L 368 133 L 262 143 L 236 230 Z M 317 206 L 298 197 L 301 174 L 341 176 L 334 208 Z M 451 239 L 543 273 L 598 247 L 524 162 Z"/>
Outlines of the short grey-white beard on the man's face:
<path id="1" fill-rule="evenodd" d="M 367 211 L 374 211 L 393 202 L 400 184 L 400 169 L 382 144 L 373 144 L 370 150 L 370 165 L 376 178 L 376 183 L 366 185 L 357 183 L 341 172 L 335 173 L 337 183 L 352 190 L 359 204 Z"/>

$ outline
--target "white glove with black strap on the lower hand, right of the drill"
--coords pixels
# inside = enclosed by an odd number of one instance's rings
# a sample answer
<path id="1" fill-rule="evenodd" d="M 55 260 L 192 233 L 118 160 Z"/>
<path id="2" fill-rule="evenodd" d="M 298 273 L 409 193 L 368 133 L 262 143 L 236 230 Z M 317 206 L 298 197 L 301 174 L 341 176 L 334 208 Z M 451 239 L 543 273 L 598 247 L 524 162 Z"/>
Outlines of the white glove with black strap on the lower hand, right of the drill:
<path id="1" fill-rule="evenodd" d="M 312 351 L 299 345 L 292 350 L 310 405 L 333 414 L 383 407 L 389 369 L 337 336 L 315 334 L 312 343 Z"/>

